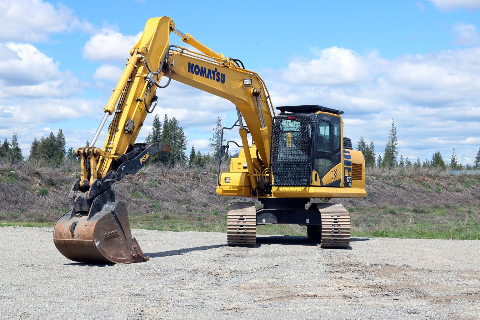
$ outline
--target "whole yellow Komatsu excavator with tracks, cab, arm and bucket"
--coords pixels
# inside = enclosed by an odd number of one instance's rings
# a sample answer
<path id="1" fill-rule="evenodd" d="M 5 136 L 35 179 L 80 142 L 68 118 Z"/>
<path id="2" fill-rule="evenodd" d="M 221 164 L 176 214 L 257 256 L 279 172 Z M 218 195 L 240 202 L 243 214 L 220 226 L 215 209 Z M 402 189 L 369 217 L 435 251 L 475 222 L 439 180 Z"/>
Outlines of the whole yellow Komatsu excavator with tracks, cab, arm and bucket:
<path id="1" fill-rule="evenodd" d="M 171 44 L 170 35 L 180 36 L 189 47 Z M 135 140 L 154 112 L 158 89 L 172 79 L 236 107 L 238 119 L 222 129 L 221 139 L 223 130 L 237 127 L 241 144 L 228 141 L 221 146 L 216 193 L 258 199 L 263 208 L 256 209 L 253 201 L 229 203 L 228 246 L 255 247 L 257 225 L 293 224 L 305 225 L 308 237 L 321 248 L 348 248 L 348 210 L 342 204 L 311 201 L 366 194 L 365 161 L 343 136 L 343 111 L 319 105 L 274 108 L 256 72 L 180 32 L 170 17 L 149 19 L 130 56 L 90 145 L 75 150 L 80 179 L 70 191 L 72 209 L 58 219 L 53 233 L 61 254 L 87 263 L 148 260 L 132 237 L 126 205 L 115 201 L 112 186 L 147 166 L 153 154 L 169 152 L 161 142 Z M 163 77 L 167 80 L 161 84 Z M 103 148 L 96 147 L 109 116 L 113 118 Z M 230 143 L 240 147 L 240 153 L 231 158 L 228 171 L 220 172 Z"/>

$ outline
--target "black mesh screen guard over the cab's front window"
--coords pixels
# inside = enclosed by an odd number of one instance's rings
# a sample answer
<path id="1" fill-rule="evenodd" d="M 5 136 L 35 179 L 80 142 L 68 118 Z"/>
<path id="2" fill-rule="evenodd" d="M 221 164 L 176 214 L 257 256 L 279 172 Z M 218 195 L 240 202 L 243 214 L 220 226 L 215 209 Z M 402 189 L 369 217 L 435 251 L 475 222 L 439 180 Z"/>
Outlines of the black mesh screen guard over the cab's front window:
<path id="1" fill-rule="evenodd" d="M 310 186 L 311 116 L 282 116 L 272 120 L 270 172 L 275 186 Z"/>

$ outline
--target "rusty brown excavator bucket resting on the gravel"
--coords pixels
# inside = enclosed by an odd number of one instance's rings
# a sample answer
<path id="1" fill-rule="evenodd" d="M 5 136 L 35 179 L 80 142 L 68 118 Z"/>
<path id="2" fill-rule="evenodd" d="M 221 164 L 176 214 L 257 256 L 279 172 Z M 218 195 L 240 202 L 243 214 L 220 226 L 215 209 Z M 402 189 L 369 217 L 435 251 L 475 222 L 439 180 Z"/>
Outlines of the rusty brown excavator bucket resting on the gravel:
<path id="1" fill-rule="evenodd" d="M 132 238 L 127 208 L 123 202 L 107 202 L 92 214 L 65 213 L 53 229 L 53 242 L 66 258 L 88 263 L 147 261 Z"/>

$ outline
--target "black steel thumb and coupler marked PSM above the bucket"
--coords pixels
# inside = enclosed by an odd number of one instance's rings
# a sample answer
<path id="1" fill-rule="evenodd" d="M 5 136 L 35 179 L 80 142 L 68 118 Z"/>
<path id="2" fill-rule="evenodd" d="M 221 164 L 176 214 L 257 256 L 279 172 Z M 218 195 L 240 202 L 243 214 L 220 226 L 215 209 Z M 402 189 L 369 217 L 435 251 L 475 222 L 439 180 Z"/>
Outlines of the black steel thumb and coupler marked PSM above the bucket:
<path id="1" fill-rule="evenodd" d="M 135 143 L 132 151 L 120 156 L 117 170 L 111 170 L 103 178 L 96 179 L 88 191 L 80 189 L 79 179 L 70 190 L 72 216 L 88 213 L 90 218 L 99 212 L 106 202 L 115 201 L 115 192 L 111 189 L 115 181 L 121 180 L 127 174 L 136 174 L 149 163 L 153 154 L 159 152 L 170 152 L 170 149 L 162 142 Z"/>

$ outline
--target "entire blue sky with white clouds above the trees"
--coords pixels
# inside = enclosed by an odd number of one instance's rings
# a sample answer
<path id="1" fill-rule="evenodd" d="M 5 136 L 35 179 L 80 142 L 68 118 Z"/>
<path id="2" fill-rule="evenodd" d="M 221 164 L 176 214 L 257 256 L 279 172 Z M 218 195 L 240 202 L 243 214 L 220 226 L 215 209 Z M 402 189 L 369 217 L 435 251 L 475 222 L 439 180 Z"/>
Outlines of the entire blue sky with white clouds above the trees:
<path id="1" fill-rule="evenodd" d="M 0 0 L 0 138 L 16 132 L 27 155 L 35 137 L 62 128 L 67 148 L 83 146 L 146 21 L 164 15 L 258 72 L 274 107 L 343 110 L 345 136 L 373 141 L 377 154 L 392 119 L 411 160 L 436 150 L 449 158 L 455 147 L 472 164 L 479 150 L 480 0 Z M 179 120 L 189 149 L 208 151 L 217 116 L 236 120 L 232 103 L 181 83 L 157 95 L 155 113 Z M 227 138 L 240 141 L 235 132 Z"/>

